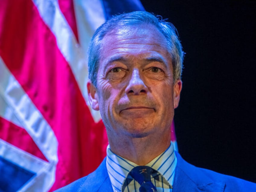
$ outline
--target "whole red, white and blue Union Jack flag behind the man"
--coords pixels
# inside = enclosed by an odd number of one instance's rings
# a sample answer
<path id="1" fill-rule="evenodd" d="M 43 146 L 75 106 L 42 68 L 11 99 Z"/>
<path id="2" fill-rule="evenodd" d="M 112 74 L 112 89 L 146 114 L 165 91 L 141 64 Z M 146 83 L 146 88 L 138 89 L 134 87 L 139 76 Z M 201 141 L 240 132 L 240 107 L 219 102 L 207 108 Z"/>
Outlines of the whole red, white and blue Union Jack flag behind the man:
<path id="1" fill-rule="evenodd" d="M 0 191 L 53 191 L 98 167 L 108 142 L 87 105 L 86 51 L 106 19 L 134 10 L 139 0 L 0 2 Z"/>

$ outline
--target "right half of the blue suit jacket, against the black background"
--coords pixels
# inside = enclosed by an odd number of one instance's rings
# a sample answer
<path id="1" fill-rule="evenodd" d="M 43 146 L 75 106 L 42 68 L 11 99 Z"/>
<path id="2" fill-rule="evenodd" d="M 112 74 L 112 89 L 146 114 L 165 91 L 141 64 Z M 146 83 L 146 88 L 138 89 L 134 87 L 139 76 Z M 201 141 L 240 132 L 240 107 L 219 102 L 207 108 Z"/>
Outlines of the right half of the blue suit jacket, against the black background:
<path id="1" fill-rule="evenodd" d="M 184 191 L 256 191 L 256 184 L 233 176 L 220 174 L 208 169 L 198 168 L 187 163 L 176 152 L 177 167 L 174 175 L 174 184 L 181 186 Z M 174 186 L 175 187 L 175 186 Z M 186 189 L 186 190 L 185 190 Z M 175 190 L 174 190 L 175 191 Z"/>

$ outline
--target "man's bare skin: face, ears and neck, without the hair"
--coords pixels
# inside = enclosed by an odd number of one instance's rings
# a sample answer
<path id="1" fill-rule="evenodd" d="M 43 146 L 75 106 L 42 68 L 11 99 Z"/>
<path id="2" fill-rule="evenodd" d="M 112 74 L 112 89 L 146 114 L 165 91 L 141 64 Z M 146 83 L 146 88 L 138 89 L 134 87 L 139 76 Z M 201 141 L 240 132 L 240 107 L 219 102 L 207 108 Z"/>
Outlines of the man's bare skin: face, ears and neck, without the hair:
<path id="1" fill-rule="evenodd" d="M 145 165 L 168 148 L 182 82 L 174 82 L 166 39 L 153 25 L 110 31 L 102 42 L 97 89 L 90 80 L 87 88 L 114 153 Z"/>

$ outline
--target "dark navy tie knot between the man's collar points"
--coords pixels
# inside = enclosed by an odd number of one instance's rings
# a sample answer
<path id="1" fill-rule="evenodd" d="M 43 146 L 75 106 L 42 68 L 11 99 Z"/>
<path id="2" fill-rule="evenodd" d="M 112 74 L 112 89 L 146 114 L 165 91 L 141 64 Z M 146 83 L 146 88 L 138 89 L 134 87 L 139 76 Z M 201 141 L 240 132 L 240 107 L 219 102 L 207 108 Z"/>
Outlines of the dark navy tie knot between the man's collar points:
<path id="1" fill-rule="evenodd" d="M 130 175 L 141 185 L 145 181 L 151 181 L 151 172 L 152 168 L 149 166 L 137 166 L 131 170 Z"/>

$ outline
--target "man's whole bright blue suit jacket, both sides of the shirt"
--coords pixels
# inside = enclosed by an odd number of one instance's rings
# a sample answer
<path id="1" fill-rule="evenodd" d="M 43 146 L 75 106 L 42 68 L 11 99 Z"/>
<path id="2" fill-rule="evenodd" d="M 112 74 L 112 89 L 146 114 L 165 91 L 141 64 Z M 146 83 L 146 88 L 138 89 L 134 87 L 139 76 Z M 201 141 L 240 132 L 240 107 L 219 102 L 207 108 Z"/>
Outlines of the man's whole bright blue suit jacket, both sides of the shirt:
<path id="1" fill-rule="evenodd" d="M 230 191 L 256 192 L 256 184 L 223 175 L 187 163 L 176 152 L 177 167 L 174 176 L 173 192 L 178 191 Z M 93 173 L 57 190 L 61 191 L 110 191 L 113 192 L 106 168 L 106 158 Z"/>

